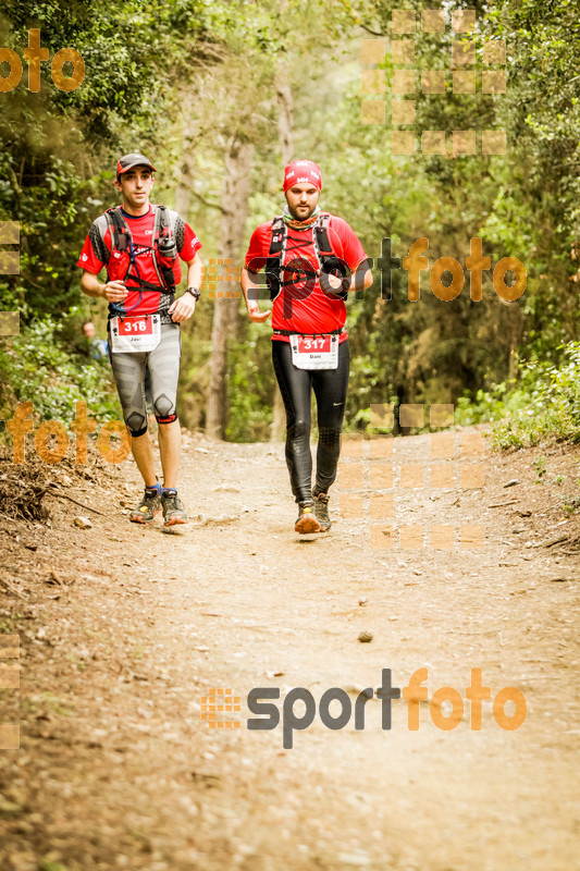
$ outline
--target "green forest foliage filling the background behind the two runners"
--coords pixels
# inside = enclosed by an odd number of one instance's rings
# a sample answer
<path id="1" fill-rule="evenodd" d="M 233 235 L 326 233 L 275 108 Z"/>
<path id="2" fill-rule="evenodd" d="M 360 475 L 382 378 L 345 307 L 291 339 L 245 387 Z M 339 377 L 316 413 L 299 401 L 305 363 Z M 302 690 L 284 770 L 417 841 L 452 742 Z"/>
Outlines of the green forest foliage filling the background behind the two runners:
<path id="1" fill-rule="evenodd" d="M 433 7 L 420 0 L 404 5 L 416 10 L 417 22 L 423 7 Z M 451 69 L 451 14 L 466 5 L 445 4 L 444 34 L 418 26 L 418 69 Z M 435 298 L 424 273 L 421 299 L 410 303 L 404 271 L 395 273 L 393 298 L 381 299 L 375 272 L 365 298 L 348 304 L 347 427 L 363 428 L 372 403 L 454 402 L 459 422 L 495 421 L 497 444 L 532 443 L 548 432 L 577 438 L 580 302 L 578 281 L 570 281 L 579 278 L 580 223 L 576 4 L 474 4 L 477 93 L 454 94 L 448 76 L 444 96 L 420 88 L 416 95 L 419 135 L 506 131 L 505 155 L 481 155 L 478 137 L 478 154 L 461 158 L 425 157 L 419 137 L 414 156 L 394 156 L 388 126 L 360 123 L 360 41 L 371 34 L 390 39 L 391 13 L 399 8 L 395 0 L 287 0 L 281 14 L 277 0 L 5 0 L 0 45 L 22 57 L 28 29 L 37 26 L 50 56 L 73 46 L 86 64 L 83 85 L 70 94 L 54 87 L 46 62 L 40 93 L 28 91 L 25 64 L 21 85 L 0 94 L 0 220 L 21 223 L 21 274 L 0 275 L 0 298 L 24 323 L 0 349 L 0 398 L 8 410 L 22 396 L 39 413 L 66 420 L 70 403 L 83 394 L 92 414 L 100 403 L 101 415 L 119 416 L 108 378 L 101 372 L 104 380 L 91 380 L 96 367 L 79 364 L 74 318 L 61 323 L 81 298 L 75 263 L 88 225 L 115 201 L 114 158 L 138 148 L 159 160 L 156 191 L 159 201 L 172 205 L 182 157 L 192 149 L 188 217 L 203 257 L 220 257 L 230 136 L 256 148 L 248 237 L 283 204 L 274 82 L 283 62 L 294 101 L 294 156 L 320 163 L 321 205 L 351 224 L 369 256 L 380 256 L 383 237 L 391 238 L 393 256 L 404 257 L 427 236 L 430 267 L 442 256 L 465 266 L 470 240 L 479 236 L 492 267 L 514 256 L 528 273 L 525 294 L 505 304 L 491 272 L 479 303 L 469 299 L 467 272 L 461 295 L 449 303 Z M 488 39 L 507 44 L 505 95 L 481 93 Z M 388 119 L 388 51 L 383 66 Z M 183 331 L 180 415 L 194 427 L 205 420 L 211 317 L 211 304 L 202 300 L 195 324 Z M 244 322 L 230 341 L 230 439 L 268 438 L 274 395 L 269 353 L 266 327 L 246 329 Z M 530 365 L 516 378 L 521 356 Z"/>

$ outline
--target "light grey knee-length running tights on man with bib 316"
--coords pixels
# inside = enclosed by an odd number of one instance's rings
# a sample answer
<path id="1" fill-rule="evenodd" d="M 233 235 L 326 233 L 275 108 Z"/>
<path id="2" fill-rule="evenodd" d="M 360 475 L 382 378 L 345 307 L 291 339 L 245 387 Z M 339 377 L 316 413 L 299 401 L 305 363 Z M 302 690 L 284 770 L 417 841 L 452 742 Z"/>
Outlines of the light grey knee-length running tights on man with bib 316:
<path id="1" fill-rule="evenodd" d="M 111 342 L 109 341 L 109 347 Z M 145 369 L 151 376 L 153 410 L 160 424 L 176 419 L 175 402 L 180 378 L 182 341 L 178 323 L 161 324 L 161 341 L 155 351 L 137 354 L 109 352 L 125 425 L 132 436 L 147 431 Z"/>

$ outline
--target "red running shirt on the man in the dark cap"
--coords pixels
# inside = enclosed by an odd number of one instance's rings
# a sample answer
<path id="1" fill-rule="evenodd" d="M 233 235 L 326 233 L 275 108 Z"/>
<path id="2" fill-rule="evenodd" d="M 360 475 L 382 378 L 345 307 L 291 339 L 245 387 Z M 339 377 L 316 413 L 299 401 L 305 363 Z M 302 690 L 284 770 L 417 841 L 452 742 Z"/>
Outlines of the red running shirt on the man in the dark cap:
<path id="1" fill-rule="evenodd" d="M 109 259 L 108 253 L 110 253 L 112 248 L 110 228 L 107 229 L 103 241 L 97 225 L 102 218 L 103 216 L 98 218 L 97 221 L 92 222 L 77 262 L 77 266 L 81 267 L 81 269 L 86 269 L 87 272 L 91 272 L 94 275 L 98 275 L 101 269 L 107 266 L 107 260 Z M 144 281 L 150 282 L 151 284 L 159 284 L 159 278 L 153 266 L 153 207 L 149 206 L 149 211 L 145 214 L 139 214 L 138 217 L 127 214 L 127 212 L 123 210 L 123 218 L 126 220 L 131 230 L 131 235 L 133 236 L 135 259 L 137 261 L 140 278 Z M 178 216 L 175 221 L 175 242 L 177 244 L 177 252 L 181 259 L 185 260 L 186 262 L 188 260 L 193 260 L 196 256 L 196 253 L 201 248 L 201 243 L 192 228 L 185 223 L 183 218 L 180 218 Z M 182 279 L 182 268 L 178 259 L 175 261 L 174 273 L 175 283 L 178 284 Z M 136 308 L 133 308 L 133 306 L 135 306 L 137 303 L 139 293 L 141 291 L 141 289 L 138 286 L 138 279 L 134 279 L 134 275 L 135 267 L 132 266 L 131 274 L 125 282 L 127 290 L 129 291 L 124 300 L 125 310 L 131 315 L 155 315 L 158 311 L 166 310 L 174 297 L 172 294 L 168 294 L 163 287 L 159 287 L 159 292 L 143 291 L 141 302 Z M 137 290 L 131 291 L 131 287 L 137 287 Z M 114 309 L 110 310 L 114 315 L 119 314 L 119 311 Z"/>

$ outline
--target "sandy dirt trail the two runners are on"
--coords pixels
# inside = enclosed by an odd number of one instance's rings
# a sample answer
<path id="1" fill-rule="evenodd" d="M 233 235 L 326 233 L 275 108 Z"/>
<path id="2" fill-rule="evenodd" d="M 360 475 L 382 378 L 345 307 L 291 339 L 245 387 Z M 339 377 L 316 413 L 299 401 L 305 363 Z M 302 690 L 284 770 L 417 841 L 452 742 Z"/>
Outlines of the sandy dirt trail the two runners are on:
<path id="1" fill-rule="evenodd" d="M 357 450 L 345 452 L 343 469 L 357 465 Z M 540 454 L 480 458 L 483 488 L 465 487 L 474 479 L 459 477 L 456 458 L 453 487 L 411 489 L 400 487 L 400 466 L 429 465 L 429 437 L 395 441 L 394 526 L 467 528 L 465 547 L 457 531 L 453 550 L 432 549 L 427 531 L 422 548 L 399 547 L 417 543 L 411 532 L 392 549 L 371 547 L 369 524 L 356 516 L 299 539 L 289 531 L 283 447 L 201 437 L 186 440 L 182 484 L 200 517 L 181 536 L 129 526 L 118 513 L 138 490 L 129 463 L 116 490 L 94 496 L 107 514 L 90 515 L 90 529 L 72 526 L 86 512 L 64 500 L 50 503 L 52 528 L 7 522 L 11 591 L 0 629 L 20 635 L 21 689 L 1 690 L 1 722 L 20 723 L 22 746 L 0 753 L 0 868 L 580 867 L 580 527 L 578 515 L 563 523 L 551 483 L 558 474 L 565 483 L 578 478 L 580 453 L 554 449 L 536 484 Z M 366 461 L 363 487 L 383 462 Z M 357 474 L 342 471 L 343 480 Z M 509 479 L 519 483 L 505 488 Z M 76 480 L 67 492 L 95 494 Z M 343 488 L 331 503 L 335 513 L 338 501 L 356 513 L 346 495 Z M 481 548 L 473 523 L 486 530 Z M 535 547 L 562 530 L 567 542 Z M 372 642 L 358 641 L 361 630 Z M 363 731 L 354 713 L 341 731 L 321 722 L 326 689 L 346 690 L 354 711 L 383 668 L 405 687 L 421 667 L 429 699 L 418 731 L 407 728 L 404 700 L 393 701 L 390 731 L 377 698 Z M 465 697 L 476 667 L 492 699 L 505 686 L 525 695 L 520 728 L 501 728 L 490 701 L 482 729 L 470 728 Z M 294 733 L 292 749 L 282 725 L 246 726 L 247 695 L 264 686 L 282 697 L 304 687 L 316 700 L 313 723 Z M 430 714 L 445 686 L 465 702 L 453 731 Z M 240 712 L 222 716 L 240 727 L 201 720 L 210 688 L 240 698 Z M 282 710 L 283 698 L 275 704 Z M 448 713 L 436 697 L 433 711 Z"/>

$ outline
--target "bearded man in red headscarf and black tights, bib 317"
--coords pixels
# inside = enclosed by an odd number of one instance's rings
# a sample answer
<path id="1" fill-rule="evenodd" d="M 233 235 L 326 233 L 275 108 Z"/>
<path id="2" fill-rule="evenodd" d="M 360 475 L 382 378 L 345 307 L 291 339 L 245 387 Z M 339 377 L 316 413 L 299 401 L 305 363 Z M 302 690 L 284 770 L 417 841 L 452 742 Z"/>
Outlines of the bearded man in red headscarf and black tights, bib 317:
<path id="1" fill-rule="evenodd" d="M 266 270 L 272 307 L 272 359 L 286 409 L 286 463 L 299 506 L 295 530 L 331 527 L 329 489 L 336 478 L 346 390 L 348 335 L 344 329 L 349 291 L 372 284 L 367 255 L 342 218 L 320 210 L 320 168 L 295 160 L 284 172 L 284 214 L 255 230 L 242 290 L 250 320 L 270 311 L 258 305 L 258 272 Z M 312 490 L 310 395 L 317 400 L 319 441 Z"/>

